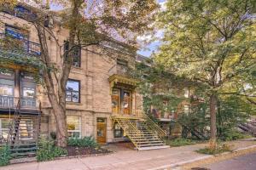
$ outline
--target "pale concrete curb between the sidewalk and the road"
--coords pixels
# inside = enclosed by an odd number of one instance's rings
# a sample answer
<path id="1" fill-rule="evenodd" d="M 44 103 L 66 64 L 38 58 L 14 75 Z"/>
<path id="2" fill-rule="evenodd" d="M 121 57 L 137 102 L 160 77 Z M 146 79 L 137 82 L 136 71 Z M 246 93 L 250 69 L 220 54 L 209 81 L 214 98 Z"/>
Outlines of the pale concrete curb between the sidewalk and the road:
<path id="1" fill-rule="evenodd" d="M 236 150 L 232 150 L 232 151 L 227 151 L 227 152 L 217 154 L 217 155 L 201 156 L 201 157 L 189 160 L 189 161 L 180 161 L 180 162 L 177 162 L 177 163 L 173 163 L 173 164 L 169 164 L 169 165 L 165 165 L 165 166 L 161 166 L 161 167 L 155 167 L 155 168 L 151 168 L 151 169 L 148 169 L 148 170 L 160 170 L 160 169 L 167 170 L 168 168 L 177 168 L 177 167 L 181 167 L 183 165 L 189 164 L 189 163 L 194 163 L 194 162 L 197 162 L 197 161 L 203 161 L 203 160 L 215 158 L 215 157 L 218 157 L 218 156 L 227 156 L 227 155 L 231 155 L 232 153 L 239 153 L 241 151 L 251 150 L 251 149 L 256 149 L 256 144 L 251 145 L 251 146 L 247 146 L 247 147 L 244 147 L 244 148 L 239 148 L 239 149 L 236 149 Z"/>

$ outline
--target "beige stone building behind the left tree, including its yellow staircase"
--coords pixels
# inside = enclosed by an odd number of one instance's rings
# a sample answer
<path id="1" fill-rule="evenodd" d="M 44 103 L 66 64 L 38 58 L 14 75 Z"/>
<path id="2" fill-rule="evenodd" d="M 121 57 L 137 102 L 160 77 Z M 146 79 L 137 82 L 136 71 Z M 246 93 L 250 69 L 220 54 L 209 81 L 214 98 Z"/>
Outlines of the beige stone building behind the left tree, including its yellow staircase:
<path id="1" fill-rule="evenodd" d="M 32 76 L 37 69 L 29 63 L 30 58 L 40 56 L 40 44 L 35 27 L 22 14 L 37 17 L 36 10 L 17 5 L 14 11 L 2 11 L 0 16 L 0 57 L 8 60 L 0 67 L 0 137 L 5 141 L 14 131 L 11 144 L 37 141 L 39 136 L 49 138 L 55 132 L 46 90 Z M 64 53 L 68 31 L 57 26 L 54 30 Z M 10 39 L 18 41 L 21 48 L 9 47 L 6 41 Z M 48 44 L 51 62 L 58 65 L 60 50 L 50 38 Z M 78 49 L 73 57 L 66 93 L 70 138 L 93 136 L 103 144 L 130 139 L 138 149 L 166 147 L 162 141 L 165 132 L 143 115 L 138 80 L 127 74 L 137 59 L 129 46 L 115 40 L 102 42 Z"/>

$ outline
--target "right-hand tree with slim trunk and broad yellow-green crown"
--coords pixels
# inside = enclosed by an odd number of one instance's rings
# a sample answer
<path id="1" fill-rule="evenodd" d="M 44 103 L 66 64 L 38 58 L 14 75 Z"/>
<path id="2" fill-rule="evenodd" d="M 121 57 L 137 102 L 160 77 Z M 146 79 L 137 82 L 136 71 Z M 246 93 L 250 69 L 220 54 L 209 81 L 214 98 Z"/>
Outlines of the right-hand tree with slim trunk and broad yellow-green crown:
<path id="1" fill-rule="evenodd" d="M 255 66 L 255 9 L 253 0 L 168 0 L 157 20 L 164 37 L 155 60 L 207 86 L 212 147 L 219 91 Z"/>

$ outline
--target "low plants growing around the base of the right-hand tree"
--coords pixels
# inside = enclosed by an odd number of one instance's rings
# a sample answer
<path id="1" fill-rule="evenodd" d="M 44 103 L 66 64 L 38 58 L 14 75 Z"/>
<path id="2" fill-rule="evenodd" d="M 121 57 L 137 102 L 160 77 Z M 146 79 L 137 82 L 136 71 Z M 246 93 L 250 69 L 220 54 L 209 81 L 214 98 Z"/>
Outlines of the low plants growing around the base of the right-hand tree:
<path id="1" fill-rule="evenodd" d="M 207 155 L 217 155 L 226 151 L 232 151 L 230 145 L 228 144 L 218 144 L 216 148 L 205 147 L 196 152 Z"/>

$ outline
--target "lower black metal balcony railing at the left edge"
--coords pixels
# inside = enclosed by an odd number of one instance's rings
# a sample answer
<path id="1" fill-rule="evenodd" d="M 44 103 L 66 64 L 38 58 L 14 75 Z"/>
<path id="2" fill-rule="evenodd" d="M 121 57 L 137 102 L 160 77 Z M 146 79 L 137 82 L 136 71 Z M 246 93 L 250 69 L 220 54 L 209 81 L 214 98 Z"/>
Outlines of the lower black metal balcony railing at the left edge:
<path id="1" fill-rule="evenodd" d="M 13 96 L 0 95 L 0 108 L 2 109 L 15 109 L 16 105 L 20 100 L 20 109 L 37 107 L 37 100 L 31 98 L 16 98 Z"/>

